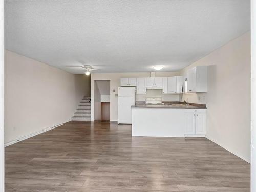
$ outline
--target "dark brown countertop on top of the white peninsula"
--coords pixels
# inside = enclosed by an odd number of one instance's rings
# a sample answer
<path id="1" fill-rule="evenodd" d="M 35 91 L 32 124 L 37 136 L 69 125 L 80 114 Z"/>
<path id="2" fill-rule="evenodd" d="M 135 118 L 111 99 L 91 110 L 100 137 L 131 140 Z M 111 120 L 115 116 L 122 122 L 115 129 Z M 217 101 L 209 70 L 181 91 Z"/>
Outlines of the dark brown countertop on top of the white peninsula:
<path id="1" fill-rule="evenodd" d="M 132 108 L 174 108 L 174 109 L 207 109 L 205 104 L 183 102 L 163 102 L 164 105 L 146 105 L 144 102 L 138 102 Z"/>

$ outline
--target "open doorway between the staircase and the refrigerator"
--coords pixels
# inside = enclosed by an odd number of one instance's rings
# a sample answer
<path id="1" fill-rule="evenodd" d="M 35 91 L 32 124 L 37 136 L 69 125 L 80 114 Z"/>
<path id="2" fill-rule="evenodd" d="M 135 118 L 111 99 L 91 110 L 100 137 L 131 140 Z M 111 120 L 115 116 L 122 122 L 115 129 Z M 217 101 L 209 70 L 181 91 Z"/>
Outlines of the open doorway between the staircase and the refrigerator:
<path id="1" fill-rule="evenodd" d="M 94 81 L 94 120 L 110 120 L 110 80 Z"/>

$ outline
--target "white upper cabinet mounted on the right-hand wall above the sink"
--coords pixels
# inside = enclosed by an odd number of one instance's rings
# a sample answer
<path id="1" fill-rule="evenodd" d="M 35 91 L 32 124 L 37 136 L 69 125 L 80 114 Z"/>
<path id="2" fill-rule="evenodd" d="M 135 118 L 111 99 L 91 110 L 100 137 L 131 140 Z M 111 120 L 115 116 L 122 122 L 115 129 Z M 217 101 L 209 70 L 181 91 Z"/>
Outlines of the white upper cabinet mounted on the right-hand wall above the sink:
<path id="1" fill-rule="evenodd" d="M 187 71 L 186 92 L 207 92 L 207 66 L 196 66 Z"/>

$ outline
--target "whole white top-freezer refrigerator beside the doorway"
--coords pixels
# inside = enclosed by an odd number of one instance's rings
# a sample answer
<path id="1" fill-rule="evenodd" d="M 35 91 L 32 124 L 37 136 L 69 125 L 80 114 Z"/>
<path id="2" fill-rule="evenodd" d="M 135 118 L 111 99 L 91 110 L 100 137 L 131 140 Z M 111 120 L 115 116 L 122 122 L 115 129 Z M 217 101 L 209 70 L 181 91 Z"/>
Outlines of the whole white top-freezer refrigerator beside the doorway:
<path id="1" fill-rule="evenodd" d="M 118 87 L 118 124 L 132 124 L 132 109 L 135 105 L 136 87 Z"/>

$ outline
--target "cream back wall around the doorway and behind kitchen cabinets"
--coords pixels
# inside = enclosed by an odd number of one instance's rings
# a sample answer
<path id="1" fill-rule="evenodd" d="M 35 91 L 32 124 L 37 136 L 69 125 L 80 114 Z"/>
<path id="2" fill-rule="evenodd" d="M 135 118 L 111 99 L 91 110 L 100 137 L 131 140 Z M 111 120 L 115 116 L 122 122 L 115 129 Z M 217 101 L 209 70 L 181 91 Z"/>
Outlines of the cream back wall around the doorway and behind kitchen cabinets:
<path id="1" fill-rule="evenodd" d="M 156 77 L 171 77 L 179 75 L 179 72 L 156 72 Z M 121 77 L 150 77 L 149 72 L 144 73 L 92 73 L 91 75 L 91 119 L 94 120 L 94 81 L 95 80 L 110 80 L 110 120 L 117 121 L 117 96 L 115 96 L 120 86 L 120 78 Z M 113 92 L 115 90 L 115 92 Z M 162 95 L 161 91 L 153 90 L 147 91 L 147 94 L 150 95 Z M 137 101 L 145 101 L 145 95 L 136 95 Z M 163 95 L 164 101 L 178 101 L 179 95 L 168 94 Z"/>

